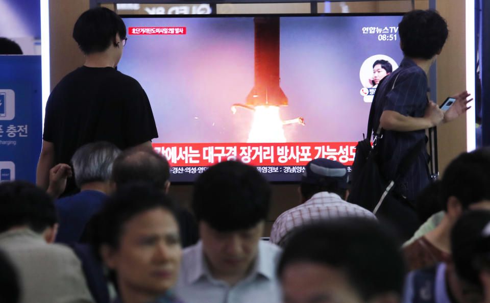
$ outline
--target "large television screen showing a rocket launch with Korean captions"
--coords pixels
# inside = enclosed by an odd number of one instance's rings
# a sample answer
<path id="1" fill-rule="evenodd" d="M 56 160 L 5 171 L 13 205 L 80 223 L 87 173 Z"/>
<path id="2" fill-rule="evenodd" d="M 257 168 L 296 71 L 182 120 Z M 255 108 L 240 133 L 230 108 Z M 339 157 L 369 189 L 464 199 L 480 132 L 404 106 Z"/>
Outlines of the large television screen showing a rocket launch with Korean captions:
<path id="1" fill-rule="evenodd" d="M 377 83 L 403 58 L 401 18 L 123 16 L 117 68 L 148 94 L 171 181 L 232 159 L 299 181 L 312 159 L 354 161 Z"/>

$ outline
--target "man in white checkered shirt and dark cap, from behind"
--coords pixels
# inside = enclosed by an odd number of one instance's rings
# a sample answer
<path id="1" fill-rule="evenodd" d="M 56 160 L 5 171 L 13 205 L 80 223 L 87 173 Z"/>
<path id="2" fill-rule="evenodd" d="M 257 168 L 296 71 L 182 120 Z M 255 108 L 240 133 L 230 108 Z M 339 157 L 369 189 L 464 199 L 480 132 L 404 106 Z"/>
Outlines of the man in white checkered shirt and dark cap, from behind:
<path id="1" fill-rule="evenodd" d="M 288 233 L 305 223 L 338 217 L 367 217 L 370 211 L 347 202 L 347 167 L 325 158 L 310 161 L 301 179 L 303 204 L 282 213 L 274 222 L 270 241 L 283 246 Z"/>

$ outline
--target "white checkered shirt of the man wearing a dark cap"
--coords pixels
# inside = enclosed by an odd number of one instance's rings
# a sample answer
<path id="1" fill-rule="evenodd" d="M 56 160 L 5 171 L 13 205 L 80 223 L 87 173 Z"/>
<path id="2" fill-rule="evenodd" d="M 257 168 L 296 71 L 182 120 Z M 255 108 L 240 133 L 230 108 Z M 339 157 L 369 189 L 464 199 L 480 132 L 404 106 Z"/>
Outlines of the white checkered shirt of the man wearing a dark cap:
<path id="1" fill-rule="evenodd" d="M 281 240 L 293 229 L 320 219 L 339 217 L 376 217 L 369 210 L 349 203 L 331 192 L 315 193 L 302 205 L 283 212 L 272 225 L 270 241 L 281 244 Z"/>

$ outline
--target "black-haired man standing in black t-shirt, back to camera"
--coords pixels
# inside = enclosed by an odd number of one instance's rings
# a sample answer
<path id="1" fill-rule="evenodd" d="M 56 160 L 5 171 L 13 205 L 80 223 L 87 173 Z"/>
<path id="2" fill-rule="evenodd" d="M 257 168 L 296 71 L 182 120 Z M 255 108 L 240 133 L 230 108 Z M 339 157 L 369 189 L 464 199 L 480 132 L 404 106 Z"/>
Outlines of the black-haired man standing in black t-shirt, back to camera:
<path id="1" fill-rule="evenodd" d="M 49 171 L 69 163 L 78 147 L 108 141 L 120 149 L 151 149 L 158 137 L 153 112 L 139 83 L 115 67 L 126 44 L 126 26 L 107 8 L 84 12 L 73 37 L 85 55 L 82 67 L 54 88 L 46 104 L 41 155 L 36 183 L 47 188 Z M 65 193 L 75 184 L 68 179 Z"/>

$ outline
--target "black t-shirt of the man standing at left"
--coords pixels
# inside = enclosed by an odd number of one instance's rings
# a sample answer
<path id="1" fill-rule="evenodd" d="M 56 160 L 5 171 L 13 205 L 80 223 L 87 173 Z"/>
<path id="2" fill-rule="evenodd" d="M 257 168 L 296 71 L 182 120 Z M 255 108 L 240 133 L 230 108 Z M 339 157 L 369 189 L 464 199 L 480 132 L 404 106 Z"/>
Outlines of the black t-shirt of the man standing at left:
<path id="1" fill-rule="evenodd" d="M 112 67 L 77 68 L 47 100 L 43 140 L 54 144 L 55 164 L 70 163 L 86 143 L 109 141 L 125 149 L 157 137 L 143 88 Z"/>

